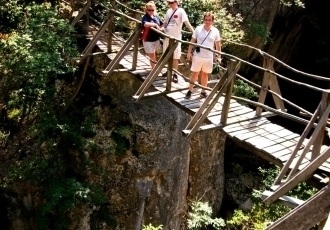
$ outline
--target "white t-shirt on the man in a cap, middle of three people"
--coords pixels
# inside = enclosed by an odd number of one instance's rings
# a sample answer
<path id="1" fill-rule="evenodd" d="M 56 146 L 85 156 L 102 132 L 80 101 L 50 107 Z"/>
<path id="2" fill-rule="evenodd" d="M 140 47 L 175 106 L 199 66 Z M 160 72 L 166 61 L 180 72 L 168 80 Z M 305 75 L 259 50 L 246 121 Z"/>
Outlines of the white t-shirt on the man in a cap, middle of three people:
<path id="1" fill-rule="evenodd" d="M 175 13 L 173 14 L 174 11 Z M 173 16 L 171 17 L 172 14 Z M 164 19 L 164 22 L 167 23 L 165 28 L 165 33 L 167 35 L 181 39 L 182 25 L 184 22 L 187 21 L 188 21 L 188 16 L 183 8 L 179 7 L 177 8 L 177 10 L 168 9 Z"/>

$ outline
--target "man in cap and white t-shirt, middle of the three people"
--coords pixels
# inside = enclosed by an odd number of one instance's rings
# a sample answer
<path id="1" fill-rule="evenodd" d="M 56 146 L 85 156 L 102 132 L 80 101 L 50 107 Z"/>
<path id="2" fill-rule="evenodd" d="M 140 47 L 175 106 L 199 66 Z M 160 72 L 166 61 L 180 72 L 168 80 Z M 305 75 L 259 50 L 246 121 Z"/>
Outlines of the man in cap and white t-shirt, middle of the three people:
<path id="1" fill-rule="evenodd" d="M 177 39 L 182 38 L 182 25 L 183 23 L 193 32 L 194 28 L 189 22 L 187 13 L 183 8 L 179 7 L 178 0 L 166 0 L 170 7 L 165 15 L 164 19 L 164 32 L 167 35 L 173 36 Z M 165 38 L 163 41 L 163 51 L 168 47 L 169 39 Z M 178 69 L 179 59 L 181 57 L 181 43 L 178 44 L 173 54 L 173 69 Z M 178 82 L 178 77 L 173 74 L 173 82 Z"/>

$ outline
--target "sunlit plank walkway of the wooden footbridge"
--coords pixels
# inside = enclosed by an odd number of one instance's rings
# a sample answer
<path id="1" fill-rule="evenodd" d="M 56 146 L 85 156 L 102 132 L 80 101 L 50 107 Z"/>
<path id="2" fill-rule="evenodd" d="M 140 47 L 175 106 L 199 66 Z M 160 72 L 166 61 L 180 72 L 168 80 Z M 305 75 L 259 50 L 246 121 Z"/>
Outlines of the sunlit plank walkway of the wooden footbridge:
<path id="1" fill-rule="evenodd" d="M 100 40 L 96 45 L 101 51 L 107 52 L 106 42 Z M 123 43 L 121 43 L 121 41 L 115 40 L 113 41 L 112 47 L 114 50 L 119 50 L 122 45 Z M 116 53 L 111 53 L 108 54 L 108 57 L 112 60 L 115 55 Z M 133 57 L 131 51 L 129 51 L 119 63 L 121 65 L 121 71 L 126 70 L 142 80 L 145 79 L 151 71 L 149 60 L 144 55 L 139 53 L 137 69 L 131 70 L 132 60 Z M 166 69 L 162 70 L 162 73 L 165 71 Z M 164 92 L 166 78 L 162 77 L 160 74 L 153 83 L 153 86 L 155 91 Z M 190 99 L 185 99 L 184 97 L 187 92 L 187 86 L 188 83 L 183 78 L 179 77 L 178 83 L 172 82 L 172 90 L 175 90 L 176 92 L 167 93 L 164 94 L 164 96 L 180 109 L 183 109 L 187 113 L 193 115 L 202 105 L 204 99 L 199 97 L 199 89 L 195 90 Z M 227 125 L 220 126 L 219 123 L 223 101 L 224 98 L 221 97 L 207 117 L 208 124 L 200 127 L 200 130 L 221 128 L 229 138 L 233 139 L 242 147 L 268 160 L 269 162 L 272 162 L 278 166 L 283 166 L 289 159 L 291 151 L 298 142 L 300 135 L 280 125 L 271 123 L 271 121 L 266 117 L 256 117 L 253 109 L 238 103 L 234 99 L 231 99 L 230 102 Z M 307 142 L 308 139 L 305 140 L 304 144 Z M 326 148 L 327 146 L 322 146 L 321 152 Z M 303 149 L 299 152 L 302 150 Z M 310 156 L 311 150 L 306 154 L 299 169 L 302 169 L 310 162 Z M 295 165 L 298 158 L 299 156 L 296 156 L 290 168 Z M 330 173 L 330 161 L 328 160 L 324 162 L 319 169 L 321 173 Z"/>

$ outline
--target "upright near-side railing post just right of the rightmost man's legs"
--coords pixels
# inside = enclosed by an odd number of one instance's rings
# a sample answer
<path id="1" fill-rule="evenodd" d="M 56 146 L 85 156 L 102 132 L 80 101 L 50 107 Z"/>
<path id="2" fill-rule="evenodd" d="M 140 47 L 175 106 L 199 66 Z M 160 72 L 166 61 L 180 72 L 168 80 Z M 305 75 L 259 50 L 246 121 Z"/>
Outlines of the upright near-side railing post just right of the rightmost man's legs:
<path id="1" fill-rule="evenodd" d="M 236 60 L 229 60 L 228 76 L 230 76 L 230 74 L 235 71 L 236 62 L 237 62 Z M 236 77 L 233 77 L 227 85 L 226 96 L 225 96 L 225 100 L 222 105 L 222 112 L 221 112 L 221 118 L 220 118 L 220 122 L 223 125 L 225 125 L 227 123 L 230 99 L 231 99 L 231 95 L 233 93 L 235 79 L 236 79 Z"/>

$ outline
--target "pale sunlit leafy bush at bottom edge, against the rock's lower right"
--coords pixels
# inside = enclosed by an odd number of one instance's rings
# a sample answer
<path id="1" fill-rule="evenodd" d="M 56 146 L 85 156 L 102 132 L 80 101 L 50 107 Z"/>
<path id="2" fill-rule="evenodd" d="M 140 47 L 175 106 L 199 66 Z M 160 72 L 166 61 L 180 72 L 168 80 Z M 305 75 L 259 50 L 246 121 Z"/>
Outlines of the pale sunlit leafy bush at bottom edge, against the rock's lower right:
<path id="1" fill-rule="evenodd" d="M 212 218 L 212 208 L 207 202 L 192 202 L 191 211 L 188 213 L 188 229 L 207 229 L 212 226 L 215 229 L 223 229 L 225 221 L 221 218 Z"/>

